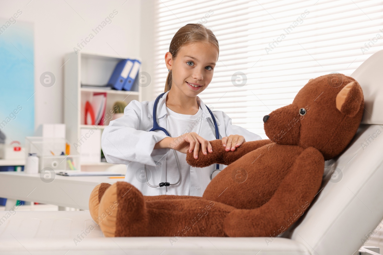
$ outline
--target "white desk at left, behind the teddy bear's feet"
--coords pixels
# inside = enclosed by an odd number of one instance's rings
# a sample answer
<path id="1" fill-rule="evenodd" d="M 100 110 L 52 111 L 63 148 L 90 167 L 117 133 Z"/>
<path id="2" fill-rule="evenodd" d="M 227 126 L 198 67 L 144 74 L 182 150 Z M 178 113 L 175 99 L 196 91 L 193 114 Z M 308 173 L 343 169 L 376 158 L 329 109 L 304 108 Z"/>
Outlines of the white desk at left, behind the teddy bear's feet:
<path id="1" fill-rule="evenodd" d="M 89 210 L 89 195 L 96 185 L 123 180 L 108 176 L 56 175 L 52 182 L 46 183 L 40 174 L 0 172 L 0 197 L 10 199 L 11 203 L 23 200 Z M 5 210 L 10 209 L 11 203 L 7 203 Z"/>

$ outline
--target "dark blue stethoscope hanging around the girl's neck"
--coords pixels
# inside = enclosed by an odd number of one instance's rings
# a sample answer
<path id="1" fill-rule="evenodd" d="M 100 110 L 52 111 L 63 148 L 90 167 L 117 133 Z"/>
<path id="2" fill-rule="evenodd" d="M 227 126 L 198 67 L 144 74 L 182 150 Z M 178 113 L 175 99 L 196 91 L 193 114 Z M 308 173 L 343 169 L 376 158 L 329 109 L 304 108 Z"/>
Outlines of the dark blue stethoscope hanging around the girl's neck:
<path id="1" fill-rule="evenodd" d="M 154 130 L 161 130 L 163 131 L 167 136 L 170 136 L 169 133 L 167 132 L 167 130 L 165 128 L 162 128 L 158 125 L 157 123 L 157 114 L 156 114 L 156 111 L 157 111 L 157 105 L 158 105 L 158 101 L 160 100 L 160 98 L 165 94 L 166 92 L 160 94 L 154 101 L 154 107 L 153 107 L 153 128 L 149 131 L 154 131 Z M 206 105 L 205 105 L 206 106 Z M 219 132 L 218 132 L 218 125 L 217 125 L 217 122 L 216 122 L 216 119 L 213 115 L 213 112 L 211 112 L 211 110 L 209 109 L 209 107 L 206 106 L 206 108 L 208 109 L 211 117 L 213 118 L 213 122 L 214 122 L 214 127 L 215 127 L 215 131 L 216 131 L 216 138 L 219 139 Z M 175 154 L 175 150 L 173 150 L 173 153 L 174 153 L 174 156 L 175 156 L 175 160 L 177 161 L 177 167 L 178 167 L 178 180 L 176 183 L 169 183 L 169 182 L 161 182 L 160 184 L 158 185 L 155 185 L 155 186 L 152 186 L 149 184 L 149 182 L 147 181 L 147 177 L 146 177 L 146 164 L 145 164 L 145 180 L 146 180 L 146 183 L 147 185 L 149 185 L 150 187 L 163 187 L 163 186 L 170 186 L 170 185 L 175 185 L 177 184 L 178 182 L 180 182 L 181 180 L 181 171 L 180 171 L 180 165 L 178 164 L 178 157 L 177 157 L 177 154 Z M 216 169 L 214 169 L 211 174 L 210 174 L 210 180 L 212 179 L 212 175 L 215 171 L 221 171 L 219 170 L 219 164 L 216 165 Z"/>

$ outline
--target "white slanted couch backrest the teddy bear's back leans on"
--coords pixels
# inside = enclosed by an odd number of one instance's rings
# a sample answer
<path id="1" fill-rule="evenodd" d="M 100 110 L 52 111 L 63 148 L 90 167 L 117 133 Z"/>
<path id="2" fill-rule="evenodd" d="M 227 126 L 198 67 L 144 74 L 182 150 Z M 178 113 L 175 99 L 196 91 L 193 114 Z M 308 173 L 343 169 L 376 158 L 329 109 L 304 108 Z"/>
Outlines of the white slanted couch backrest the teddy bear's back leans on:
<path id="1" fill-rule="evenodd" d="M 326 165 L 324 188 L 300 224 L 283 236 L 312 254 L 351 255 L 383 218 L 382 126 L 361 125 L 344 153 Z M 329 181 L 332 174 L 336 177 L 333 170 L 342 172 L 339 182 Z"/>

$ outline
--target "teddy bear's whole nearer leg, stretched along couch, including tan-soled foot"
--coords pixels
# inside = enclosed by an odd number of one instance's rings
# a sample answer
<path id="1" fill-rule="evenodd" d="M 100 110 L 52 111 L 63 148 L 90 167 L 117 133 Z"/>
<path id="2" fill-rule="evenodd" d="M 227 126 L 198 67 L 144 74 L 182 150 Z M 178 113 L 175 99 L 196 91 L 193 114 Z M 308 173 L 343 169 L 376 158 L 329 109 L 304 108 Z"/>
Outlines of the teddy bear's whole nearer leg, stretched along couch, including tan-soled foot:
<path id="1" fill-rule="evenodd" d="M 116 182 L 101 198 L 96 223 L 105 236 L 174 236 L 176 242 L 177 236 L 226 236 L 224 219 L 234 209 L 202 198 L 145 201 L 133 185 Z"/>

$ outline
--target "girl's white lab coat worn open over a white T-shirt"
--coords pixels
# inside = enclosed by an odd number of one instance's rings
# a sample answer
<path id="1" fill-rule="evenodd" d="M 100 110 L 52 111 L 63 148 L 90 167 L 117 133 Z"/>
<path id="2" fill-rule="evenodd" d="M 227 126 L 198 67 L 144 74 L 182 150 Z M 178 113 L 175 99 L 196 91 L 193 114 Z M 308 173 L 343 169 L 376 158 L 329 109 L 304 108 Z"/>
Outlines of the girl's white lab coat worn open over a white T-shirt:
<path id="1" fill-rule="evenodd" d="M 159 99 L 157 106 L 157 122 L 160 127 L 167 129 L 167 110 L 165 99 L 166 92 Z M 215 140 L 215 129 L 213 119 L 200 97 L 197 102 L 203 111 L 200 136 L 208 141 Z M 174 182 L 166 179 L 166 155 L 173 154 L 172 149 L 153 149 L 154 145 L 167 137 L 160 130 L 150 131 L 153 127 L 153 106 L 154 101 L 137 100 L 131 101 L 124 109 L 123 117 L 112 120 L 108 127 L 105 127 L 101 136 L 101 147 L 106 161 L 113 164 L 126 164 L 125 181 L 133 184 L 143 195 L 165 195 L 167 187 L 149 187 L 144 175 L 144 164 L 147 165 L 147 177 L 151 185 L 158 185 L 160 182 Z M 223 111 L 211 111 L 216 118 L 219 130 L 219 139 L 229 135 L 242 135 L 246 141 L 261 140 L 256 135 L 242 127 L 232 125 L 231 119 Z M 208 152 L 209 153 L 209 152 Z M 226 165 L 219 165 L 224 169 Z M 216 164 L 207 167 L 190 167 L 190 195 L 203 195 L 210 182 L 210 174 L 216 169 Z M 175 180 L 177 181 L 177 180 Z M 182 176 L 181 180 L 182 182 Z M 171 188 L 171 185 L 170 187 Z"/>

